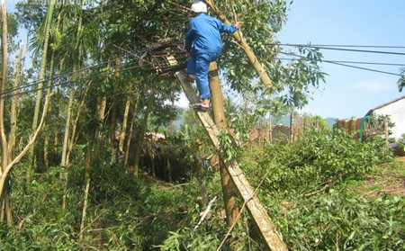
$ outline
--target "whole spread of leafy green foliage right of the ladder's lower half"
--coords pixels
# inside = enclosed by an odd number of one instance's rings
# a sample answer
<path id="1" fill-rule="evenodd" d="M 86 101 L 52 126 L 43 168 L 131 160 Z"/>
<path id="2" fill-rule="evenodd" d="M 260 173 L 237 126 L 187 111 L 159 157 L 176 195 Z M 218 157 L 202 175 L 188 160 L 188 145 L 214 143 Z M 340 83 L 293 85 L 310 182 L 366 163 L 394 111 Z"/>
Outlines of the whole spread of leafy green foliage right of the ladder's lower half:
<path id="1" fill-rule="evenodd" d="M 360 143 L 340 131 L 309 131 L 240 162 L 291 250 L 401 250 L 403 196 L 350 193 L 392 155 L 383 139 Z M 250 160 L 248 160 L 250 159 Z M 246 161 L 246 162 L 245 162 Z"/>

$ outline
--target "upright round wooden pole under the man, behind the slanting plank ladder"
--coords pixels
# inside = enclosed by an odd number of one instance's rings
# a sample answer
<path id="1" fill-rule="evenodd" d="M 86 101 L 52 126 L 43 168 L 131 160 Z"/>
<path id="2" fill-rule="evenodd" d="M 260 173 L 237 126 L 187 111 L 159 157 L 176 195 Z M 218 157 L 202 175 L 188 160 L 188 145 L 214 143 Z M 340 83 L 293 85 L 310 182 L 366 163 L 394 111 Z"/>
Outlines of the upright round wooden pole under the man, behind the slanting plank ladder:
<path id="1" fill-rule="evenodd" d="M 218 130 L 227 130 L 227 121 L 223 108 L 222 89 L 220 87 L 220 77 L 218 76 L 218 67 L 216 62 L 211 62 L 209 68 L 210 88 L 211 88 L 211 103 L 213 111 L 213 119 Z M 222 184 L 223 202 L 227 214 L 228 227 L 234 226 L 238 221 L 239 208 L 236 205 L 237 194 L 234 193 L 235 184 L 227 171 L 227 167 L 220 159 L 220 179 Z M 238 243 L 233 243 L 233 250 L 238 249 Z"/>

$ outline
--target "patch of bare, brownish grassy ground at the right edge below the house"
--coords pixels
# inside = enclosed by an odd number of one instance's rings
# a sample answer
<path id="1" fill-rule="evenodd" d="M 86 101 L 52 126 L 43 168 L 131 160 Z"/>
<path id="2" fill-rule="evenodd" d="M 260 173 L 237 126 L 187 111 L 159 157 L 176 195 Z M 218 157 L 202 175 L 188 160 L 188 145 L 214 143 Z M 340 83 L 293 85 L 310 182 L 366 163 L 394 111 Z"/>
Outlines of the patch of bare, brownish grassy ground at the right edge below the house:
<path id="1" fill-rule="evenodd" d="M 381 167 L 376 174 L 368 175 L 356 190 L 363 190 L 370 197 L 385 193 L 405 196 L 405 157 L 397 157 L 392 165 Z"/>

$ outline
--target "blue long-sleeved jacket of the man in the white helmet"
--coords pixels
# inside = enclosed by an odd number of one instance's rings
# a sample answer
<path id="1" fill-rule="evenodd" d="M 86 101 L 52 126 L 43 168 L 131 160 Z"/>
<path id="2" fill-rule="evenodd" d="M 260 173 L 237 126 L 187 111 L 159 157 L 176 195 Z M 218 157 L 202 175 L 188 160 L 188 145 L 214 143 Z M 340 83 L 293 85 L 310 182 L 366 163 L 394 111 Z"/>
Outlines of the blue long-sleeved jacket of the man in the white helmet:
<path id="1" fill-rule="evenodd" d="M 222 50 L 220 33 L 233 33 L 237 30 L 238 27 L 235 25 L 227 25 L 205 13 L 200 13 L 188 22 L 185 50 L 190 52 L 193 46 L 197 53 L 220 53 Z"/>

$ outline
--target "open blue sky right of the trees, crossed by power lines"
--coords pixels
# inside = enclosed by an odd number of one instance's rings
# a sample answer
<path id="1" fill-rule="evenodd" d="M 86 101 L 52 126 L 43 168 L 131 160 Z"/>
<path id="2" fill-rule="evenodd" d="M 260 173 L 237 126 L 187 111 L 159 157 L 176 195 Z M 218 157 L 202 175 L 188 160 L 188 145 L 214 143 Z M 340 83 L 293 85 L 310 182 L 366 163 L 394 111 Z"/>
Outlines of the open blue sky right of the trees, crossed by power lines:
<path id="1" fill-rule="evenodd" d="M 283 31 L 282 43 L 405 47 L 404 0 L 295 0 Z M 350 48 L 394 51 L 403 49 Z M 405 67 L 405 55 L 321 49 L 324 60 L 395 63 Z M 399 74 L 399 66 L 355 65 Z M 334 118 L 362 117 L 370 109 L 405 95 L 399 76 L 321 63 L 326 84 L 302 109 Z M 404 111 L 405 113 L 405 111 Z"/>

